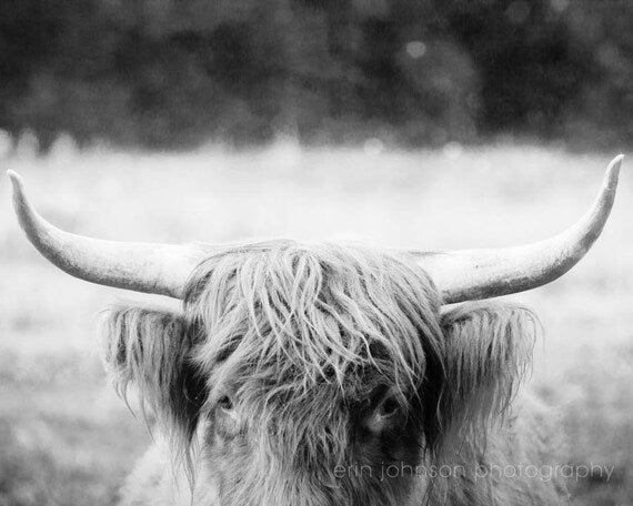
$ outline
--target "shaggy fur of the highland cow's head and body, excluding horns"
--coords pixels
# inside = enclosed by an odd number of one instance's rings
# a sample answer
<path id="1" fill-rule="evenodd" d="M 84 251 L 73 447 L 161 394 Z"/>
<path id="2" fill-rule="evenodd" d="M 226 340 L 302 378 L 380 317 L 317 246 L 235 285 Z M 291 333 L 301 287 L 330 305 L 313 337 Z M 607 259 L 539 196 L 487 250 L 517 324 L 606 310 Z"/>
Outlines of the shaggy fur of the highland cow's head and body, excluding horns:
<path id="1" fill-rule="evenodd" d="M 227 249 L 192 274 L 181 314 L 110 313 L 115 385 L 138 388 L 193 490 L 168 498 L 179 472 L 161 465 L 140 474 L 162 492 L 134 486 L 137 473 L 124 504 L 555 504 L 552 483 L 476 474 L 539 457 L 523 447 L 534 427 L 510 411 L 537 327 L 510 305 L 442 314 L 406 257 L 285 241 Z M 438 465 L 459 475 L 410 470 Z M 384 476 L 389 466 L 406 472 Z"/>

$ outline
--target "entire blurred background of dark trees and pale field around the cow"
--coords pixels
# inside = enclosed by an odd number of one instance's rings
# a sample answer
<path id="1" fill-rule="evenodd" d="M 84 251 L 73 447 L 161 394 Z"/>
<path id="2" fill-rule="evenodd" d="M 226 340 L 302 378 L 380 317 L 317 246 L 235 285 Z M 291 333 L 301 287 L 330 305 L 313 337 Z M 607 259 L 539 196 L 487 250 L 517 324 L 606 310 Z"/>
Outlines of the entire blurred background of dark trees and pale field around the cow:
<path id="1" fill-rule="evenodd" d="M 0 162 L 104 239 L 536 241 L 633 145 L 624 0 L 2 0 Z M 633 504 L 633 183 L 562 280 L 512 298 L 576 504 Z M 630 170 L 631 169 L 631 170 Z M 173 301 L 57 271 L 0 179 L 0 506 L 113 505 L 150 437 L 107 384 L 99 312 Z"/>

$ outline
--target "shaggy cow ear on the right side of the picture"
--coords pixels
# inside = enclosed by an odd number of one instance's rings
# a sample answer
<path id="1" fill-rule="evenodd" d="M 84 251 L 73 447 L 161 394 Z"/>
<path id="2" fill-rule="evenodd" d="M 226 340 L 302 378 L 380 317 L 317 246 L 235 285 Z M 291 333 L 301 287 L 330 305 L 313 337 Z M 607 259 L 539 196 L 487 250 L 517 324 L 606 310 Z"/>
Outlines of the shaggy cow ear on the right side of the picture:
<path id="1" fill-rule="evenodd" d="M 541 324 L 525 307 L 478 302 L 445 312 L 442 327 L 439 424 L 445 434 L 484 435 L 506 414 L 529 371 Z"/>

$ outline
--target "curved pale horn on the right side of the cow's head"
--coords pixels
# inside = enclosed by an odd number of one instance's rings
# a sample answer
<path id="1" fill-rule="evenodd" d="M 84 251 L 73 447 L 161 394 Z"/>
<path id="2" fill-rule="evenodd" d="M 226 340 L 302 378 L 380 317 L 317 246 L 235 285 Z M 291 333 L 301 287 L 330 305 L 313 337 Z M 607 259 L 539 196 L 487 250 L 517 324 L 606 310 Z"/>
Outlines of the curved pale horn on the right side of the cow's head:
<path id="1" fill-rule="evenodd" d="M 615 199 L 624 155 L 606 169 L 589 212 L 564 232 L 523 246 L 453 252 L 411 252 L 433 279 L 446 304 L 535 289 L 572 269 L 599 237 Z"/>

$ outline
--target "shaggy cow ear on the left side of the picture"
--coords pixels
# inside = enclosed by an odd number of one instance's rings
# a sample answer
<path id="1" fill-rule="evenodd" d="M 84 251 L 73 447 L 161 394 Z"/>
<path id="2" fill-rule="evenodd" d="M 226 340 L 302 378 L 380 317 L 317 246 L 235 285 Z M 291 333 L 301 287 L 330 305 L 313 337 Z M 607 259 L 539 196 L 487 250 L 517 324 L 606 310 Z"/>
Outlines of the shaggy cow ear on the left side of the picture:
<path id="1" fill-rule="evenodd" d="M 133 385 L 145 417 L 155 416 L 173 435 L 191 438 L 203 382 L 190 362 L 191 337 L 181 313 L 145 307 L 105 312 L 104 361 L 118 393 Z"/>

